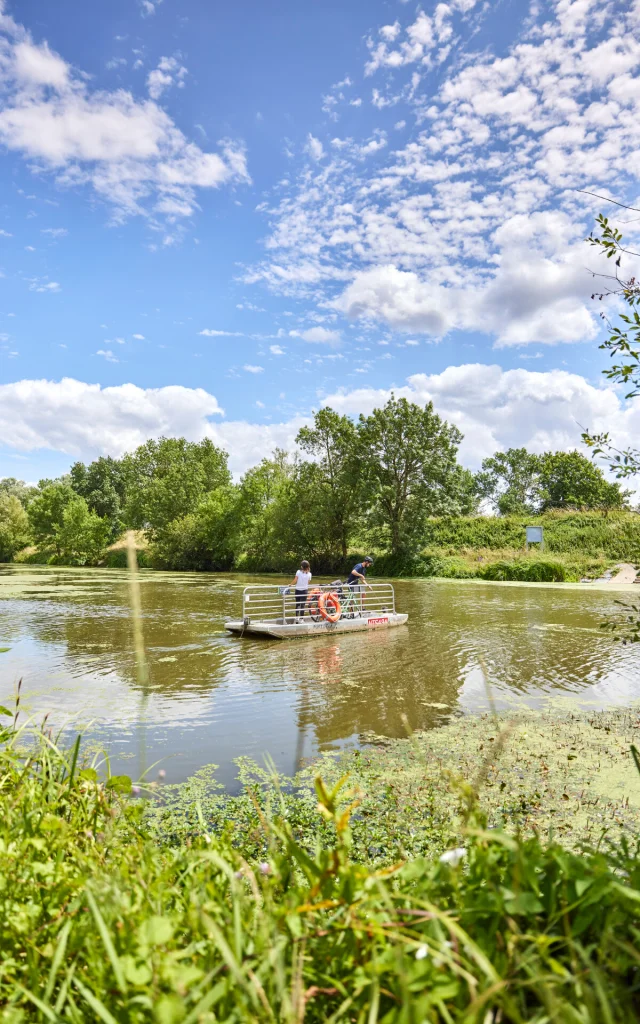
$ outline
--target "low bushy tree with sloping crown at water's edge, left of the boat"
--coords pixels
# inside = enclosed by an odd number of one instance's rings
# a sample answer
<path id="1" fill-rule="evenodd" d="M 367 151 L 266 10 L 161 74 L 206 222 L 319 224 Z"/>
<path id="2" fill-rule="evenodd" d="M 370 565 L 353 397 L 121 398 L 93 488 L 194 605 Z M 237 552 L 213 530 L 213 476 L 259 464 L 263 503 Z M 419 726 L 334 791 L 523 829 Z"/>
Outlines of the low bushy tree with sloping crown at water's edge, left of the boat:
<path id="1" fill-rule="evenodd" d="M 194 512 L 158 531 L 150 552 L 159 568 L 215 572 L 233 567 L 239 488 L 217 487 Z"/>

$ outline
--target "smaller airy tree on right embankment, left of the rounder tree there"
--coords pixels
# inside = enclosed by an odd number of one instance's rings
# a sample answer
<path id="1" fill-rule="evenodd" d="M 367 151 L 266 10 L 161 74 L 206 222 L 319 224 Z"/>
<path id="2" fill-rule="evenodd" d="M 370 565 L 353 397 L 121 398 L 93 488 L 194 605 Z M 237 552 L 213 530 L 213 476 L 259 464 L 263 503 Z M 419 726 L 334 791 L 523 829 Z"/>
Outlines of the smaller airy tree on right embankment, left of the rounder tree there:
<path id="1" fill-rule="evenodd" d="M 526 449 L 497 452 L 482 462 L 478 495 L 501 515 L 528 515 L 539 506 L 539 474 L 540 457 Z"/>

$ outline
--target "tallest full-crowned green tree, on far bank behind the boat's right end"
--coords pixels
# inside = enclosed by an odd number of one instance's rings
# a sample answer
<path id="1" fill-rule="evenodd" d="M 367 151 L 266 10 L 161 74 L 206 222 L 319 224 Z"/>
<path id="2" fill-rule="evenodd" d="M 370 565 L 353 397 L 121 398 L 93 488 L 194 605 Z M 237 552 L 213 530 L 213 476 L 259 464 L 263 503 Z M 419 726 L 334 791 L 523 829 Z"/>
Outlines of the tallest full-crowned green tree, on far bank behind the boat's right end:
<path id="1" fill-rule="evenodd" d="M 462 434 L 424 409 L 391 396 L 384 409 L 360 416 L 358 457 L 366 511 L 393 554 L 419 542 L 430 515 L 460 513 L 457 463 Z"/>

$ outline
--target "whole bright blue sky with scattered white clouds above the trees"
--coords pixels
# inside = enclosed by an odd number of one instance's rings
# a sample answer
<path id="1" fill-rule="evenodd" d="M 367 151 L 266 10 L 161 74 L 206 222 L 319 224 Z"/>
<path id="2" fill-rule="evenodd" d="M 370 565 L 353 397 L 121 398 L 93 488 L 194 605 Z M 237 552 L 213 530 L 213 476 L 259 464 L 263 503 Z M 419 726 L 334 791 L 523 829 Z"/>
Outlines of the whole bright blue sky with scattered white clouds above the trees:
<path id="1" fill-rule="evenodd" d="M 637 436 L 577 189 L 638 205 L 640 3 L 271 8 L 0 0 L 0 475 L 163 433 L 238 475 L 391 388 L 472 468 Z"/>

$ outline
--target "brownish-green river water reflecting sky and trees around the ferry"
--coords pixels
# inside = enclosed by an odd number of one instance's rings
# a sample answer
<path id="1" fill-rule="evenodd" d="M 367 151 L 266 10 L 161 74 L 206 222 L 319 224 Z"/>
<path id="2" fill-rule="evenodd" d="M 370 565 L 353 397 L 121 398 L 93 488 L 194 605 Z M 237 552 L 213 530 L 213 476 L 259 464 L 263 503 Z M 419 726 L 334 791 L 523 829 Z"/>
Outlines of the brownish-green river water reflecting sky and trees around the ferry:
<path id="1" fill-rule="evenodd" d="M 301 759 L 453 715 L 640 696 L 640 644 L 600 628 L 606 589 L 415 580 L 395 583 L 404 627 L 306 640 L 240 639 L 223 628 L 248 583 L 276 578 L 140 574 L 150 681 L 136 681 L 126 573 L 0 566 L 0 703 L 23 680 L 25 717 L 82 729 L 133 777 L 168 781 L 205 764 L 233 788 L 233 759 Z M 152 774 L 158 771 L 158 766 Z"/>

